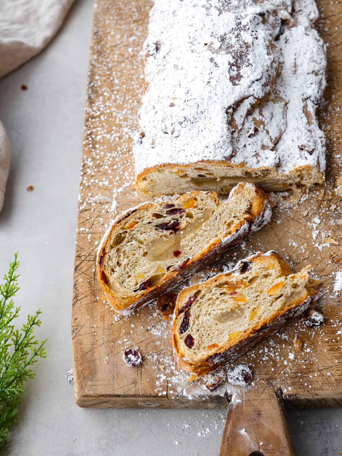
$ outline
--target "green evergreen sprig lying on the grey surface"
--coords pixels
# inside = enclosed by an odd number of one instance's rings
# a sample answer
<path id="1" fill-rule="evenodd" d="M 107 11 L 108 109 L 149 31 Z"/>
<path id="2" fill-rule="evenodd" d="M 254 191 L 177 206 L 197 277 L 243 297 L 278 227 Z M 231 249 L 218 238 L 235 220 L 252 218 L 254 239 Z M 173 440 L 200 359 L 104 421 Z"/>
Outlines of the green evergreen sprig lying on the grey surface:
<path id="1" fill-rule="evenodd" d="M 34 336 L 36 326 L 41 326 L 39 315 L 28 315 L 21 329 L 15 329 L 14 320 L 19 316 L 20 307 L 11 299 L 19 290 L 16 270 L 19 267 L 18 252 L 10 263 L 4 284 L 0 285 L 0 452 L 6 444 L 8 429 L 16 423 L 18 404 L 26 381 L 36 375 L 31 366 L 39 358 L 46 358 L 44 344 Z"/>

